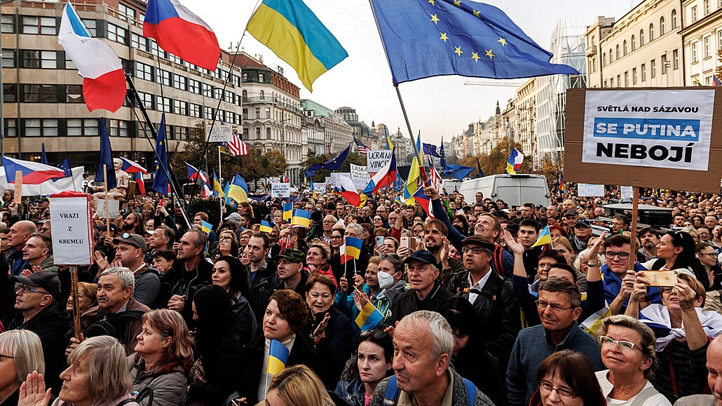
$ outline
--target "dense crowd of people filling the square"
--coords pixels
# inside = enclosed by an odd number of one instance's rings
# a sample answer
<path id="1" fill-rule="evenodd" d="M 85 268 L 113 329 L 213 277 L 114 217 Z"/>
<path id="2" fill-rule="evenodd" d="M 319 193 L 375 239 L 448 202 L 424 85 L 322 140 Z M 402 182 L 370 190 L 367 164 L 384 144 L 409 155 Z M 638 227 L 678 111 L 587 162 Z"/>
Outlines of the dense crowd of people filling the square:
<path id="1" fill-rule="evenodd" d="M 0 406 L 722 405 L 720 195 L 646 198 L 672 220 L 631 233 L 614 190 L 425 194 L 433 216 L 383 189 L 295 196 L 308 227 L 281 199 L 234 202 L 212 230 L 123 200 L 76 302 L 48 199 L 5 191 Z"/>

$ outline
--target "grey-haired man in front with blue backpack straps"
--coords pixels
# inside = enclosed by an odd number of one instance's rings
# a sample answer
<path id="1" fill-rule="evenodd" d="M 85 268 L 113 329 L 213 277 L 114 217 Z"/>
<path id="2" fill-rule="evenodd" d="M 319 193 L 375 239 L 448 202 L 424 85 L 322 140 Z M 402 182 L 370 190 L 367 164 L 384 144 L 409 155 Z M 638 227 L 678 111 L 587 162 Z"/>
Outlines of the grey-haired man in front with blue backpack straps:
<path id="1" fill-rule="evenodd" d="M 394 375 L 380 381 L 371 399 L 381 405 L 493 405 L 471 381 L 449 367 L 453 333 L 435 311 L 416 311 L 393 334 Z"/>

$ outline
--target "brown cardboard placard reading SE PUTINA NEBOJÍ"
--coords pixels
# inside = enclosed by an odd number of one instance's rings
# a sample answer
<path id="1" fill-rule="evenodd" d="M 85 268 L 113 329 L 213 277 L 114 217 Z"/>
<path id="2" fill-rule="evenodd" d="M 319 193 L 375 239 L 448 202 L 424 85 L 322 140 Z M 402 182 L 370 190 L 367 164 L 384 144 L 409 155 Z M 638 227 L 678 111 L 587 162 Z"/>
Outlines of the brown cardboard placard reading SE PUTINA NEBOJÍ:
<path id="1" fill-rule="evenodd" d="M 721 114 L 717 87 L 570 89 L 565 181 L 719 193 Z"/>

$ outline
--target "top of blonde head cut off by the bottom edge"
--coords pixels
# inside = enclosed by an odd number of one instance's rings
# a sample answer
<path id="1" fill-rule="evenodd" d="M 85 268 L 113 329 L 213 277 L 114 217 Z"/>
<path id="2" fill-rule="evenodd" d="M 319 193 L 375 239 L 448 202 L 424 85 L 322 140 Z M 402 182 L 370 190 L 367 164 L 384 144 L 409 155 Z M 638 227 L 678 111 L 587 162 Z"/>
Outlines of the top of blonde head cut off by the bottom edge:
<path id="1" fill-rule="evenodd" d="M 266 401 L 258 405 L 329 406 L 334 402 L 316 373 L 308 366 L 295 365 L 274 376 Z"/>

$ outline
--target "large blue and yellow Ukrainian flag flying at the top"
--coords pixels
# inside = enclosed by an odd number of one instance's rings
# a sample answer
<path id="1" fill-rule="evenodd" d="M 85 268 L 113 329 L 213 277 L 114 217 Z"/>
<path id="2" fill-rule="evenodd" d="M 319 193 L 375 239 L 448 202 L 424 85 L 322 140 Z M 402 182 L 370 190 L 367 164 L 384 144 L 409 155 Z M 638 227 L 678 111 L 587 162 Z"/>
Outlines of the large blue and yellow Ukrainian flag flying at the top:
<path id="1" fill-rule="evenodd" d="M 309 92 L 313 81 L 349 56 L 302 0 L 264 0 L 245 30 L 291 65 Z"/>

